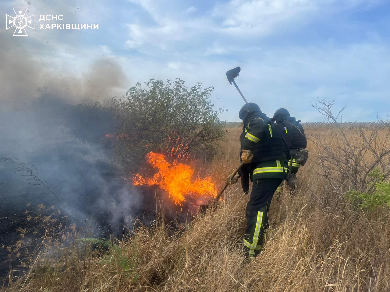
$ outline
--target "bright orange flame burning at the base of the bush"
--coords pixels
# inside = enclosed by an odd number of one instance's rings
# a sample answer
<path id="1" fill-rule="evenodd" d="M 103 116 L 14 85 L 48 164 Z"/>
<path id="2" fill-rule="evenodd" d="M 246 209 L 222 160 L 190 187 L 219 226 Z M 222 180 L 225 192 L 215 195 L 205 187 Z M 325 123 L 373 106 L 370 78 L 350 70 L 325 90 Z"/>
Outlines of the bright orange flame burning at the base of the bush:
<path id="1" fill-rule="evenodd" d="M 216 188 L 210 177 L 191 181 L 194 170 L 190 165 L 166 160 L 163 154 L 149 152 L 147 162 L 158 169 L 152 178 L 143 178 L 140 174 L 133 177 L 134 185 L 158 185 L 166 190 L 175 204 L 181 205 L 186 197 L 215 197 Z"/>

